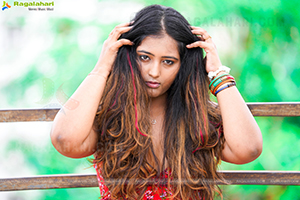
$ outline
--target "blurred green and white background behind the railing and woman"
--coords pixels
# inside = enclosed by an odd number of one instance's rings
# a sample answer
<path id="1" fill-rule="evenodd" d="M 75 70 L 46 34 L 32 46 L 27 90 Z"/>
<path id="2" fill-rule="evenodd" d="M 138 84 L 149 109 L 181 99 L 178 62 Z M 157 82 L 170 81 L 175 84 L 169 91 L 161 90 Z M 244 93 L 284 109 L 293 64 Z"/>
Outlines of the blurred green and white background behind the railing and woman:
<path id="1" fill-rule="evenodd" d="M 13 5 L 13 1 L 6 1 Z M 11 7 L 0 18 L 0 108 L 60 107 L 95 66 L 113 27 L 150 4 L 171 6 L 205 28 L 246 102 L 299 101 L 300 1 L 63 0 L 53 11 Z M 2 5 L 2 4 L 1 4 Z M 221 170 L 299 170 L 299 117 L 256 117 L 262 155 Z M 86 158 L 51 145 L 52 122 L 0 124 L 0 178 L 95 173 Z M 300 199 L 297 186 L 222 186 L 224 199 Z M 2 192 L 0 199 L 97 199 L 99 188 Z"/>

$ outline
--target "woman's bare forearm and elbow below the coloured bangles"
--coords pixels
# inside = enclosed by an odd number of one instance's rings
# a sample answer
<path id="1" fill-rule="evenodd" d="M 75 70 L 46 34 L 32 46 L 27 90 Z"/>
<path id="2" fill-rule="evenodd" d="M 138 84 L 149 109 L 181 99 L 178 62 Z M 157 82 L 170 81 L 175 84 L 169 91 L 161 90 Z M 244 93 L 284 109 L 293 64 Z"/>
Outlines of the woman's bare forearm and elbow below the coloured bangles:
<path id="1" fill-rule="evenodd" d="M 217 99 L 226 140 L 222 160 L 235 164 L 255 160 L 262 152 L 262 135 L 239 91 L 227 88 Z"/>

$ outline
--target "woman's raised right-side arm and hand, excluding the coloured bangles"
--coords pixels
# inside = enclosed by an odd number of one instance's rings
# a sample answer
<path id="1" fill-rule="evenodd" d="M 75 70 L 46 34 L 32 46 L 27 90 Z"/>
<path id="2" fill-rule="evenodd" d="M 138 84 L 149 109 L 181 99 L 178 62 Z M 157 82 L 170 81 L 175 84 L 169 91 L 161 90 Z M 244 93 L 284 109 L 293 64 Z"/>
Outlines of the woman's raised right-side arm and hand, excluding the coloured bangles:
<path id="1" fill-rule="evenodd" d="M 201 47 L 206 52 L 206 71 L 214 72 L 222 66 L 216 46 L 203 28 L 191 27 L 201 41 L 187 45 L 187 48 Z M 220 72 L 221 75 L 224 72 Z M 255 160 L 262 152 L 262 135 L 244 99 L 235 86 L 216 94 L 221 109 L 225 146 L 222 160 L 244 164 Z"/>

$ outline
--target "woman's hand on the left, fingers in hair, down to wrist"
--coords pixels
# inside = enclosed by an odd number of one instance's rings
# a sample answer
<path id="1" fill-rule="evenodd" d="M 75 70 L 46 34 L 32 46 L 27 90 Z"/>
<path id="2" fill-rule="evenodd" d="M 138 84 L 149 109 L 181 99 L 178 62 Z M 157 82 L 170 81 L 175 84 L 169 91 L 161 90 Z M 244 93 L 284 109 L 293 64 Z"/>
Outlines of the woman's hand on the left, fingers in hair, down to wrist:
<path id="1" fill-rule="evenodd" d="M 101 70 L 102 74 L 106 73 L 103 75 L 108 76 L 112 70 L 119 48 L 123 45 L 133 45 L 133 42 L 128 39 L 123 38 L 118 40 L 123 33 L 128 32 L 132 28 L 132 26 L 129 25 L 130 22 L 120 24 L 110 32 L 108 38 L 103 43 L 100 57 L 93 70 L 94 72 Z"/>

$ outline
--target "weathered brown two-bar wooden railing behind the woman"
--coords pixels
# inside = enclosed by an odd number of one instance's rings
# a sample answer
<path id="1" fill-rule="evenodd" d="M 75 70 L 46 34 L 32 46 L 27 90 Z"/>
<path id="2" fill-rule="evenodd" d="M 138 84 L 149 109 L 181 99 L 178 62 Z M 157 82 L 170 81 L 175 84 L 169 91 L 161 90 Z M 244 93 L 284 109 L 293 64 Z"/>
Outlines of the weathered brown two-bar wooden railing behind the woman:
<path id="1" fill-rule="evenodd" d="M 300 103 L 248 103 L 254 116 L 300 116 Z M 0 110 L 0 122 L 52 121 L 59 109 Z M 232 185 L 300 185 L 300 171 L 222 171 Z M 223 183 L 219 183 L 223 184 Z M 96 174 L 0 179 L 0 191 L 98 187 Z"/>

